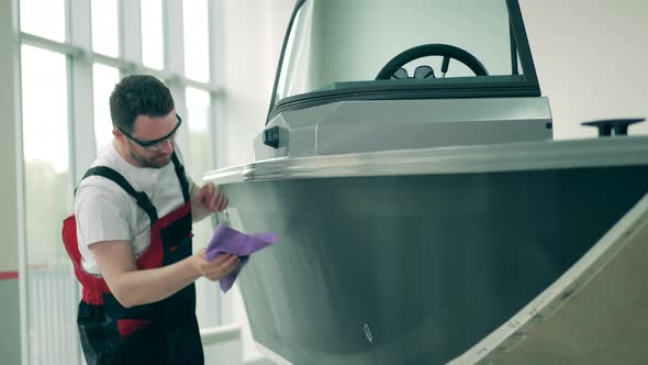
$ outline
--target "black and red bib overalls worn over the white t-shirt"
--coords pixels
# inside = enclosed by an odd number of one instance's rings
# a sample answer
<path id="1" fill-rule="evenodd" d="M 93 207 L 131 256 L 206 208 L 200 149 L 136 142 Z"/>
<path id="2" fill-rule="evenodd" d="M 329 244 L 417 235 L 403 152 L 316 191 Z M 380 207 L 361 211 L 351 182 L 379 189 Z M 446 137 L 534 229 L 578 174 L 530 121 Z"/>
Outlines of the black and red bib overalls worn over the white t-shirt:
<path id="1" fill-rule="evenodd" d="M 171 265 L 192 254 L 189 184 L 175 153 L 171 159 L 185 203 L 161 218 L 146 193 L 135 191 L 115 170 L 98 166 L 83 176 L 102 176 L 114 181 L 148 214 L 150 245 L 137 258 L 137 269 Z M 77 323 L 89 365 L 204 363 L 193 284 L 161 301 L 124 308 L 103 278 L 83 272 L 74 214 L 64 221 L 63 241 L 82 287 Z"/>

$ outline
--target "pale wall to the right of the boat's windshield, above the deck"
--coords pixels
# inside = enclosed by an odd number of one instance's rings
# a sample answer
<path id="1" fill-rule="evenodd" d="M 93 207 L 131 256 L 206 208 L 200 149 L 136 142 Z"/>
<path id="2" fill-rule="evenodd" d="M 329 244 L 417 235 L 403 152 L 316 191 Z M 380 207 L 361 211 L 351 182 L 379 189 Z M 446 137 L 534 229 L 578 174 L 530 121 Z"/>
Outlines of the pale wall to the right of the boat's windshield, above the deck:
<path id="1" fill-rule="evenodd" d="M 556 139 L 595 136 L 588 120 L 648 118 L 646 0 L 519 2 Z"/>

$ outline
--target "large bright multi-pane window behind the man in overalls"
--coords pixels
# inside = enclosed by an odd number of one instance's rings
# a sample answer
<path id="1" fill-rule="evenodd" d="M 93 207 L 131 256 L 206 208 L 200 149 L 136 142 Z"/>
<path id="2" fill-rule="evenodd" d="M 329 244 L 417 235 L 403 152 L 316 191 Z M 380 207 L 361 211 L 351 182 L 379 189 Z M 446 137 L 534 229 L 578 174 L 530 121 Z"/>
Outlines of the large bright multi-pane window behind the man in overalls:
<path id="1" fill-rule="evenodd" d="M 79 287 L 60 242 L 72 191 L 112 141 L 109 98 L 120 78 L 165 81 L 187 122 L 179 139 L 197 184 L 215 168 L 206 0 L 20 0 L 30 364 L 82 363 Z M 185 36 L 182 36 L 183 34 Z M 204 246 L 209 220 L 194 226 Z M 217 285 L 197 283 L 201 328 L 220 324 Z"/>

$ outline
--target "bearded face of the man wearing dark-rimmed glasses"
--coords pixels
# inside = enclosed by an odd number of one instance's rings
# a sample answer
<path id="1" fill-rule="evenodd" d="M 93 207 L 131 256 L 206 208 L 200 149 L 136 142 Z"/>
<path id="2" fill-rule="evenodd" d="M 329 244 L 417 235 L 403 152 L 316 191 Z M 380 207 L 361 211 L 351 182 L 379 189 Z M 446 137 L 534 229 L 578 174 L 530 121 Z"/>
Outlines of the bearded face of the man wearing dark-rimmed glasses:
<path id="1" fill-rule="evenodd" d="M 129 153 L 139 167 L 161 168 L 171 161 L 175 147 L 175 130 L 179 125 L 176 110 L 171 110 L 163 117 L 137 115 L 133 123 L 133 132 L 124 139 L 129 146 Z M 137 143 L 148 141 L 158 143 L 143 147 Z M 137 141 L 134 141 L 137 140 Z"/>

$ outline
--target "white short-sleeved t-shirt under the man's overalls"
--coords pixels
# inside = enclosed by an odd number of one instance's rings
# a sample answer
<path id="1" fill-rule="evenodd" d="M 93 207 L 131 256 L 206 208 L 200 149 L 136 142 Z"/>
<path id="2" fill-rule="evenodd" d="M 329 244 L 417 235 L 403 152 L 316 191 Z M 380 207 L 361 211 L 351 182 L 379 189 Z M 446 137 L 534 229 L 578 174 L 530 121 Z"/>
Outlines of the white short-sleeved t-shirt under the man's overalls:
<path id="1" fill-rule="evenodd" d="M 180 161 L 180 152 L 176 148 Z M 135 167 L 129 164 L 112 143 L 94 161 L 94 166 L 107 166 L 120 173 L 136 191 L 144 191 L 161 218 L 185 203 L 174 163 L 163 168 Z M 189 191 L 193 182 L 188 177 Z M 150 220 L 136 200 L 122 187 L 102 176 L 81 180 L 75 196 L 77 241 L 83 269 L 100 275 L 90 248 L 92 243 L 123 240 L 133 244 L 135 258 L 150 244 Z"/>

